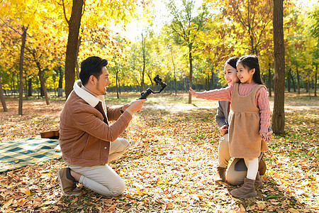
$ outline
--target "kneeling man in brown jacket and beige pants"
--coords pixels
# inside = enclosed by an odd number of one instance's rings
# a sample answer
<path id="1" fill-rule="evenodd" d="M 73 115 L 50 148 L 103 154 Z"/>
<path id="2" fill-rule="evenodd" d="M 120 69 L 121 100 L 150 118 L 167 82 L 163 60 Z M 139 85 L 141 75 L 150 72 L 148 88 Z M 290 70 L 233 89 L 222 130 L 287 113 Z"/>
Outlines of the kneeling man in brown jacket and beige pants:
<path id="1" fill-rule="evenodd" d="M 60 116 L 60 146 L 68 168 L 57 172 L 63 195 L 78 196 L 76 182 L 105 196 L 125 190 L 121 177 L 107 164 L 125 153 L 130 144 L 118 136 L 125 131 L 143 100 L 123 107 L 106 107 L 104 95 L 110 83 L 108 61 L 96 56 L 81 63 L 80 80 L 74 82 Z M 109 125 L 108 121 L 115 121 Z"/>

